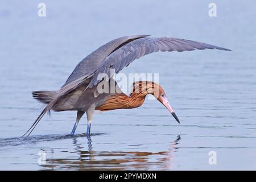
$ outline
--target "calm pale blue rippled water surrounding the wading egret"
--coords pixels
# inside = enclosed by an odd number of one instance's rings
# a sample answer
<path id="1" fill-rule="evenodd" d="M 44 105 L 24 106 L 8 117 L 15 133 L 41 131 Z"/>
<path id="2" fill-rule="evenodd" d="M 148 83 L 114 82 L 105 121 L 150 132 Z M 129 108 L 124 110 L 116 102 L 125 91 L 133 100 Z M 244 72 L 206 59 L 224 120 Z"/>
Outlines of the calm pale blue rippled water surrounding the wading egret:
<path id="1" fill-rule="evenodd" d="M 39 18 L 39 2 L 1 1 L 0 169 L 256 169 L 254 1 L 215 1 L 216 18 L 208 16 L 208 1 L 44 2 L 47 16 Z M 58 89 L 94 49 L 134 34 L 233 52 L 159 52 L 123 69 L 159 73 L 180 125 L 158 101 L 146 100 L 137 109 L 95 114 L 92 142 L 85 117 L 69 135 L 73 111 L 52 112 L 19 138 L 43 108 L 31 91 Z"/>

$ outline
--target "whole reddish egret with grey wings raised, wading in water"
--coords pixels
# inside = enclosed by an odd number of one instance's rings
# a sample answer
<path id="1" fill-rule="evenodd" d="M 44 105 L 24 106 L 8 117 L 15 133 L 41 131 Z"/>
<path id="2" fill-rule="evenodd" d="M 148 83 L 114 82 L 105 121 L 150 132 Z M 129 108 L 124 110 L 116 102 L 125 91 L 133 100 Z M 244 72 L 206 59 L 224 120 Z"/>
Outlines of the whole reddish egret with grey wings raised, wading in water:
<path id="1" fill-rule="evenodd" d="M 177 122 L 174 110 L 167 101 L 163 88 L 147 81 L 134 82 L 133 92 L 130 96 L 122 93 L 117 83 L 113 80 L 113 72 L 118 73 L 127 67 L 132 61 L 141 56 L 158 51 L 192 51 L 195 49 L 229 49 L 210 44 L 195 42 L 178 38 L 151 38 L 149 35 L 124 36 L 114 39 L 81 60 L 74 71 L 68 77 L 65 84 L 55 91 L 36 91 L 32 95 L 36 100 L 46 104 L 42 113 L 36 118 L 25 135 L 30 135 L 47 111 L 76 110 L 77 118 L 71 135 L 75 134 L 76 127 L 84 113 L 87 115 L 87 136 L 90 135 L 90 125 L 94 110 L 130 109 L 143 104 L 147 94 L 153 94 L 171 112 Z M 101 77 L 105 73 L 106 76 Z M 114 93 L 99 93 L 98 85 L 102 82 L 110 86 L 116 86 Z"/>

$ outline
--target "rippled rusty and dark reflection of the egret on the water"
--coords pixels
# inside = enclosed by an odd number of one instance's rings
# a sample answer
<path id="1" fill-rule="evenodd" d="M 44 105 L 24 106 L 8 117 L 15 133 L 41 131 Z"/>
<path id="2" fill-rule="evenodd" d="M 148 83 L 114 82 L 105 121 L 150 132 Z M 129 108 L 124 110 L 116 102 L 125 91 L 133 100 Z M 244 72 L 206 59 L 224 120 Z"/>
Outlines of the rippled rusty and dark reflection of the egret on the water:
<path id="1" fill-rule="evenodd" d="M 88 138 L 88 150 L 84 150 L 77 138 L 73 138 L 75 151 L 78 158 L 46 160 L 43 169 L 66 170 L 139 170 L 139 169 L 171 169 L 174 152 L 178 150 L 181 137 L 170 142 L 167 151 L 143 152 L 143 151 L 94 151 L 92 140 Z"/>

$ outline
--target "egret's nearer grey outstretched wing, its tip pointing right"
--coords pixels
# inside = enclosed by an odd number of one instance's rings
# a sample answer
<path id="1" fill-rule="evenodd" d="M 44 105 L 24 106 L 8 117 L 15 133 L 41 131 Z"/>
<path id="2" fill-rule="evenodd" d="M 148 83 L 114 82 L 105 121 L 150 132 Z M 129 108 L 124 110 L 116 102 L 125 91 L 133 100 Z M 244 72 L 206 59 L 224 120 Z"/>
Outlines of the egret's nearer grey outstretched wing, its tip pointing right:
<path id="1" fill-rule="evenodd" d="M 92 79 L 89 82 L 87 88 L 92 88 L 93 85 L 97 85 L 104 77 L 101 77 L 101 73 L 105 73 L 110 77 L 110 68 L 114 69 L 115 73 L 118 73 L 127 67 L 132 61 L 138 59 L 141 56 L 148 55 L 152 52 L 158 51 L 193 51 L 195 49 L 220 49 L 225 51 L 231 51 L 230 49 L 213 46 L 210 44 L 195 42 L 192 40 L 177 39 L 177 38 L 142 38 L 127 43 L 121 48 L 111 53 L 104 61 L 102 61 L 100 67 L 95 73 L 92 74 Z"/>

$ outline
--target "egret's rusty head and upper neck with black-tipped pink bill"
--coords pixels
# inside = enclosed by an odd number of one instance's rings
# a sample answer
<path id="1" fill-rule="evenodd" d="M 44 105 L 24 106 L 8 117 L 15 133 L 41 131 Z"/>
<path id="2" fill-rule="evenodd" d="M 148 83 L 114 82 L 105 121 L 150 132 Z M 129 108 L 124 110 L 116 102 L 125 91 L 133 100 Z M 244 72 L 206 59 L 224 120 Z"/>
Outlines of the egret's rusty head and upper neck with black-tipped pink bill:
<path id="1" fill-rule="evenodd" d="M 159 102 L 161 102 L 173 117 L 176 119 L 178 123 L 180 123 L 179 118 L 175 114 L 174 110 L 172 109 L 171 105 L 167 100 L 166 93 L 164 92 L 162 86 L 156 84 L 153 81 L 138 81 L 134 82 L 133 84 L 133 93 L 141 93 L 144 96 L 147 94 L 152 94 Z"/>

